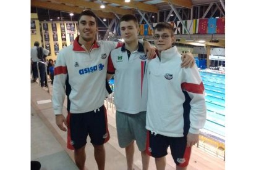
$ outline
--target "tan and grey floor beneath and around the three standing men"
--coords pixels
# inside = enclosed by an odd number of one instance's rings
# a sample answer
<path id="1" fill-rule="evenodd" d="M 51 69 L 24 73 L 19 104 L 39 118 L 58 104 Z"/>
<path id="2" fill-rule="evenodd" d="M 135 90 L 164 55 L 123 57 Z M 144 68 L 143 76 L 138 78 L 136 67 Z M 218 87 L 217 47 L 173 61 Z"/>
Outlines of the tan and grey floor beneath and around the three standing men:
<path id="1" fill-rule="evenodd" d="M 48 89 L 31 84 L 31 160 L 40 161 L 41 170 L 72 170 L 77 169 L 74 163 L 74 152 L 66 148 L 66 132 L 59 130 L 55 123 L 52 103 L 38 104 L 38 101 L 51 100 L 52 86 Z M 66 103 L 66 102 L 65 102 Z M 105 144 L 106 149 L 106 170 L 126 170 L 126 156 L 123 148 L 117 143 L 116 120 L 114 109 L 110 103 L 105 102 L 108 108 L 108 128 L 111 138 Z M 64 115 L 66 108 L 63 108 Z M 93 147 L 90 139 L 87 139 L 87 170 L 96 170 L 96 161 L 93 157 Z M 166 170 L 173 170 L 175 164 L 168 151 L 166 156 Z M 220 158 L 209 155 L 197 147 L 192 148 L 192 155 L 187 170 L 224 170 L 225 162 Z M 134 155 L 135 170 L 142 169 L 140 152 L 135 147 Z M 150 158 L 150 168 L 155 170 L 155 160 Z"/>

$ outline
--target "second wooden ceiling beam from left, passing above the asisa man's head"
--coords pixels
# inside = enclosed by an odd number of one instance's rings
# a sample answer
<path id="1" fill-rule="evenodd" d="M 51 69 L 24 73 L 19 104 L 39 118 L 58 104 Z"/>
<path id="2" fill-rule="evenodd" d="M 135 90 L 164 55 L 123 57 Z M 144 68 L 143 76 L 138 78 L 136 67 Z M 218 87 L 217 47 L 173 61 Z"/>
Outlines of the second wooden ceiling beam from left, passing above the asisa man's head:
<path id="1" fill-rule="evenodd" d="M 86 7 L 90 8 L 92 10 L 101 10 L 104 12 L 112 12 L 116 14 L 134 14 L 134 12 L 130 9 L 121 9 L 119 7 L 112 7 L 112 6 L 107 6 L 105 4 L 105 9 L 101 9 L 100 6 L 101 4 L 98 4 L 96 2 L 90 2 L 90 1 L 83 1 L 83 0 L 51 0 L 51 2 L 58 2 L 58 3 L 64 3 L 64 4 L 70 4 L 72 6 L 79 6 L 79 7 Z"/>

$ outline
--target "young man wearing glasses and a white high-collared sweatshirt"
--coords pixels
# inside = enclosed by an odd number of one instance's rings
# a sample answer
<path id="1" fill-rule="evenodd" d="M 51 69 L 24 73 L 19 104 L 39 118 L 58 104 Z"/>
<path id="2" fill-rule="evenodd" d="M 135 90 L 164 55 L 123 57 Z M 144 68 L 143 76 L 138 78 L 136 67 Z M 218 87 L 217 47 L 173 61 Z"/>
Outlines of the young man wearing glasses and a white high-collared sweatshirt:
<path id="1" fill-rule="evenodd" d="M 206 120 L 205 89 L 196 65 L 180 67 L 169 23 L 155 26 L 154 39 L 158 57 L 147 70 L 147 153 L 155 158 L 156 169 L 164 170 L 170 146 L 176 169 L 185 170 Z"/>

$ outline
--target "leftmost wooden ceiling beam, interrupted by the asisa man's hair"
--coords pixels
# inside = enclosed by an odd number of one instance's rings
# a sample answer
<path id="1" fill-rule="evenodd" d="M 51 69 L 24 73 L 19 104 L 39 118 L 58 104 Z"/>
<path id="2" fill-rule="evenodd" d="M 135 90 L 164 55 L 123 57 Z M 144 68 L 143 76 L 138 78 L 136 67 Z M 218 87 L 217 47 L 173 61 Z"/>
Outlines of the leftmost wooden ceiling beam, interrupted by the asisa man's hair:
<path id="1" fill-rule="evenodd" d="M 72 7 L 72 6 L 66 6 L 64 4 L 57 4 L 53 2 L 48 1 L 38 1 L 38 0 L 32 0 L 31 6 L 33 7 L 40 7 L 45 9 L 53 9 L 53 10 L 62 10 L 66 12 L 73 12 L 75 14 L 80 14 L 84 9 L 80 7 Z M 108 12 L 101 12 L 98 10 L 92 10 L 98 17 L 101 18 L 115 18 L 114 14 L 108 13 Z"/>

